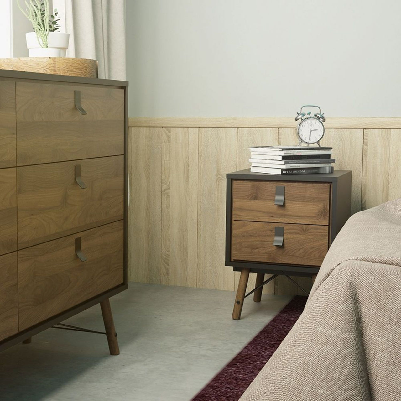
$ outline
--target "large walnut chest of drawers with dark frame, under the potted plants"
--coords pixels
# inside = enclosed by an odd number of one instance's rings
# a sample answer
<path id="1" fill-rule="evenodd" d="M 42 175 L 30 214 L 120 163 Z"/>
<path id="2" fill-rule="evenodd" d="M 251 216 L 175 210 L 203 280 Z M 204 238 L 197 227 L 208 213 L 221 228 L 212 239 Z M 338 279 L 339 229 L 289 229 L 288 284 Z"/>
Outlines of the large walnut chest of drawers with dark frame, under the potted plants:
<path id="1" fill-rule="evenodd" d="M 127 288 L 128 83 L 0 71 L 0 350 Z"/>

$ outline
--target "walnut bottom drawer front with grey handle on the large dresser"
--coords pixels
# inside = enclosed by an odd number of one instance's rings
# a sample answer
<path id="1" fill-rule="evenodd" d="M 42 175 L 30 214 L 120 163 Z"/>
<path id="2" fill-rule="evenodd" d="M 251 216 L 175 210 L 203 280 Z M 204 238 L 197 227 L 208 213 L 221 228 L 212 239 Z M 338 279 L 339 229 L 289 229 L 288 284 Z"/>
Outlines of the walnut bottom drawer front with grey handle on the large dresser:
<path id="1" fill-rule="evenodd" d="M 18 251 L 19 330 L 124 281 L 124 227 L 117 221 Z M 81 238 L 76 255 L 75 240 Z"/>

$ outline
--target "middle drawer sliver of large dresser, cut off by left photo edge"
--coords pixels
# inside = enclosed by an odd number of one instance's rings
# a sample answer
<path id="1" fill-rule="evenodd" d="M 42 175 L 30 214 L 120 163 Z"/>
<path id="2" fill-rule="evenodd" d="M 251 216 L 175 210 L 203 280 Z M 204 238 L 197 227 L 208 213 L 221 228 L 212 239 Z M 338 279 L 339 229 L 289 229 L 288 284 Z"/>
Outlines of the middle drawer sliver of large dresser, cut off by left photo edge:
<path id="1" fill-rule="evenodd" d="M 17 249 L 16 169 L 0 170 L 0 255 Z"/>

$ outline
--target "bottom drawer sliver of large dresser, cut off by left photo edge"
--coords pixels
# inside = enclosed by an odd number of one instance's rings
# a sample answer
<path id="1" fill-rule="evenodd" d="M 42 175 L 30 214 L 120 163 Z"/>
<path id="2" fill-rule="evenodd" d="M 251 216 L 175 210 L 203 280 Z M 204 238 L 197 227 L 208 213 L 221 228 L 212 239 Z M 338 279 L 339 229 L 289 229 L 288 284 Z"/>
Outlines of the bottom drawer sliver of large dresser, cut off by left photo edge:
<path id="1" fill-rule="evenodd" d="M 17 253 L 0 256 L 0 341 L 18 332 Z"/>

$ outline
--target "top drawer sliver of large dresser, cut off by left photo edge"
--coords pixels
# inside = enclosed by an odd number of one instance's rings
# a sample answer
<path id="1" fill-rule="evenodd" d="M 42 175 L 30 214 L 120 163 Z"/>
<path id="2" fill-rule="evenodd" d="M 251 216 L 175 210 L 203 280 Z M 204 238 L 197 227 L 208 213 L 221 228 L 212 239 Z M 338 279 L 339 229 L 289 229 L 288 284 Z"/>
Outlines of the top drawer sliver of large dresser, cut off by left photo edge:
<path id="1" fill-rule="evenodd" d="M 15 82 L 0 81 L 0 168 L 15 165 Z"/>

